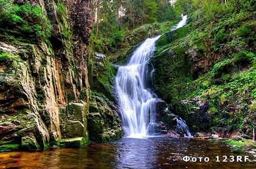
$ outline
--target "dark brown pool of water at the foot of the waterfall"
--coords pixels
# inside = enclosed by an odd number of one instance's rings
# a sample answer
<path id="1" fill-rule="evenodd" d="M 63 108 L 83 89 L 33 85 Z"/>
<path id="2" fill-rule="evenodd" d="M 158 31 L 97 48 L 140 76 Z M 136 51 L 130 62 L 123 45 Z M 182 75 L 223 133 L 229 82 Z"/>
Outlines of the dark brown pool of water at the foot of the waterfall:
<path id="1" fill-rule="evenodd" d="M 0 153 L 0 168 L 256 168 L 252 156 L 245 163 L 216 162 L 215 156 L 246 155 L 230 152 L 224 144 L 188 138 L 122 138 L 83 148 Z M 184 156 L 209 157 L 210 161 L 185 162 Z"/>

